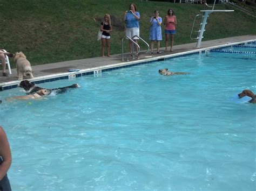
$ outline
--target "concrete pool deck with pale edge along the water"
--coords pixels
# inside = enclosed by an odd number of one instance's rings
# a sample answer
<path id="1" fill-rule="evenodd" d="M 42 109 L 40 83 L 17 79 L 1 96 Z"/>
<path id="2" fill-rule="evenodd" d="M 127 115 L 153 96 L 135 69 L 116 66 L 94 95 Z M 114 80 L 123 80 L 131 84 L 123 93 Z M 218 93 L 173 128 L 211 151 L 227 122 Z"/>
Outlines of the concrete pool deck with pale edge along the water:
<path id="1" fill-rule="evenodd" d="M 164 47 L 160 48 L 160 51 L 162 54 L 156 54 L 156 51 L 154 54 L 148 54 L 144 51 L 140 51 L 139 53 L 139 59 L 132 59 L 129 58 L 130 61 L 126 61 L 127 59 L 127 53 L 124 53 L 124 60 L 122 61 L 122 55 L 121 54 L 114 54 L 111 55 L 111 57 L 105 56 L 102 57 L 96 57 L 96 58 L 87 58 L 87 59 L 80 59 L 80 60 L 70 60 L 70 61 L 63 61 L 63 62 L 57 62 L 57 63 L 48 63 L 44 65 L 37 65 L 32 66 L 33 70 L 33 79 L 30 79 L 30 81 L 37 81 L 41 79 L 47 79 L 50 77 L 63 75 L 65 73 L 68 73 L 68 69 L 80 69 L 80 73 L 82 71 L 93 71 L 96 69 L 101 68 L 109 68 L 109 67 L 115 67 L 115 66 L 122 66 L 127 65 L 129 63 L 135 63 L 135 62 L 141 62 L 141 61 L 150 61 L 154 59 L 161 59 L 161 58 L 168 58 L 170 56 L 176 56 L 176 55 L 182 55 L 185 53 L 193 53 L 198 52 L 200 50 L 205 49 L 211 49 L 211 48 L 217 48 L 219 46 L 227 46 L 232 44 L 237 44 L 244 41 L 256 41 L 256 35 L 246 35 L 246 36 L 239 36 L 239 37 L 230 37 L 230 38 L 224 38 L 224 39 L 217 39 L 217 40 L 209 40 L 209 41 L 203 41 L 201 48 L 194 48 L 196 46 L 195 43 L 191 44 L 184 44 L 184 45 L 177 45 L 173 47 L 173 52 L 164 52 Z M 170 47 L 169 47 L 170 50 Z M 99 52 L 99 50 L 96 50 Z M 10 58 L 12 59 L 12 58 Z M 29 58 L 28 58 L 29 60 Z M 12 74 L 8 77 L 0 76 L 0 87 L 10 86 L 13 84 L 18 84 L 20 81 L 17 80 L 17 71 L 16 68 L 11 69 Z M 6 67 L 6 72 L 9 73 L 8 67 Z M 2 74 L 2 70 L 1 73 Z M 76 74 L 76 72 L 74 73 Z"/>

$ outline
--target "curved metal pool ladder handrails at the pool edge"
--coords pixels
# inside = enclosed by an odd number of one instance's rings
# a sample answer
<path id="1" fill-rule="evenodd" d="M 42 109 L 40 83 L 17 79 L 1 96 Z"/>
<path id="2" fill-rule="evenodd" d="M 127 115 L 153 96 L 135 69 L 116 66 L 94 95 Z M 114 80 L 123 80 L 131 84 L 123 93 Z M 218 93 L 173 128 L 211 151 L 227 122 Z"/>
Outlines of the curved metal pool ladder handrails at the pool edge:
<path id="1" fill-rule="evenodd" d="M 149 50 L 150 50 L 149 44 L 147 44 L 147 42 L 146 42 L 145 40 L 143 40 L 141 37 L 139 37 L 139 36 L 137 36 L 137 35 L 134 35 L 132 38 L 127 37 L 127 36 L 124 36 L 124 37 L 122 38 L 122 61 L 124 61 L 124 39 L 128 39 L 128 40 L 132 41 L 132 54 L 131 54 L 131 55 L 130 55 L 130 54 L 127 55 L 126 61 L 129 61 L 129 57 L 132 57 L 132 59 L 135 59 L 135 58 L 139 59 L 140 47 L 139 47 L 139 45 L 133 40 L 135 37 L 139 38 L 140 40 L 143 41 L 143 43 L 146 44 L 146 46 L 147 46 L 147 51 L 146 51 L 146 53 L 149 52 Z M 137 52 L 134 52 L 134 45 L 138 47 L 138 51 L 137 51 Z"/>

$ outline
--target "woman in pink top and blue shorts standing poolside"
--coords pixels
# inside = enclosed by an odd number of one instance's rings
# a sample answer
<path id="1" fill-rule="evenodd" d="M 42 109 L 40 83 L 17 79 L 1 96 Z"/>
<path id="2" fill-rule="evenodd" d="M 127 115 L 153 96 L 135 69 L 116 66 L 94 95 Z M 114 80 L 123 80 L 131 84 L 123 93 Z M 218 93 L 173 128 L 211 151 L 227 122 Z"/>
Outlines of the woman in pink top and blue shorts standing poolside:
<path id="1" fill-rule="evenodd" d="M 165 52 L 167 52 L 167 46 L 169 42 L 169 36 L 171 34 L 171 52 L 173 51 L 174 34 L 176 34 L 177 20 L 172 9 L 168 9 L 167 15 L 164 18 L 165 25 Z"/>

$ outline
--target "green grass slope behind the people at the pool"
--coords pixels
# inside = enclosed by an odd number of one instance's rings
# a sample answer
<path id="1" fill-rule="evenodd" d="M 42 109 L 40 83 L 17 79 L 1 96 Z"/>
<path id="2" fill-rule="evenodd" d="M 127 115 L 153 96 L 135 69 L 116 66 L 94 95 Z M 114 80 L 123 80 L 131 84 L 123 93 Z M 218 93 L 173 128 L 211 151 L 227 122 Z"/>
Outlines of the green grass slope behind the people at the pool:
<path id="1" fill-rule="evenodd" d="M 164 18 L 169 8 L 176 12 L 178 22 L 174 45 L 194 42 L 190 39 L 191 26 L 194 16 L 204 9 L 203 5 L 133 2 L 140 12 L 140 36 L 148 43 L 149 18 L 153 11 L 158 9 L 160 17 Z M 97 57 L 100 56 L 100 41 L 97 41 L 100 21 L 109 13 L 115 18 L 112 20 L 111 54 L 121 53 L 123 13 L 130 3 L 126 0 L 0 0 L 0 47 L 10 52 L 24 52 L 31 65 Z M 229 8 L 217 4 L 215 9 Z M 203 40 L 255 34 L 255 21 L 239 11 L 212 13 Z M 164 47 L 164 41 L 160 46 Z M 125 52 L 127 47 L 125 41 Z M 13 61 L 11 65 L 14 67 Z"/>

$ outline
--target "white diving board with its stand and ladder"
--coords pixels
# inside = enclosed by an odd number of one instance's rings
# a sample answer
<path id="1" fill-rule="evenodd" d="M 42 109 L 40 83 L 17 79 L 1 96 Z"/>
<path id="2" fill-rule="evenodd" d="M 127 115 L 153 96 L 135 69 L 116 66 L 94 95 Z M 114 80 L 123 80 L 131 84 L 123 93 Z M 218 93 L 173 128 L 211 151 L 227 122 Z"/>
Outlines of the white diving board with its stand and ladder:
<path id="1" fill-rule="evenodd" d="M 190 33 L 191 40 L 197 40 L 196 48 L 201 48 L 201 42 L 202 42 L 202 39 L 204 38 L 203 34 L 205 31 L 205 26 L 207 24 L 207 18 L 209 17 L 209 15 L 213 12 L 233 12 L 233 11 L 234 10 L 201 10 L 200 12 L 203 12 L 204 15 L 196 15 L 196 17 L 194 17 L 194 22 L 193 22 L 191 33 Z M 199 31 L 196 31 L 198 33 L 198 36 L 196 38 L 193 38 L 192 33 L 195 32 L 195 31 L 193 31 L 193 28 L 195 26 L 195 22 L 196 22 L 197 18 L 201 18 L 201 22 L 200 22 L 200 24 L 198 24 Z"/>

